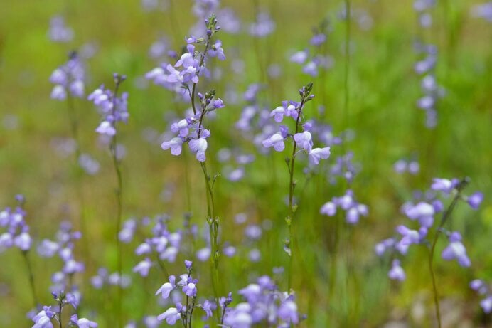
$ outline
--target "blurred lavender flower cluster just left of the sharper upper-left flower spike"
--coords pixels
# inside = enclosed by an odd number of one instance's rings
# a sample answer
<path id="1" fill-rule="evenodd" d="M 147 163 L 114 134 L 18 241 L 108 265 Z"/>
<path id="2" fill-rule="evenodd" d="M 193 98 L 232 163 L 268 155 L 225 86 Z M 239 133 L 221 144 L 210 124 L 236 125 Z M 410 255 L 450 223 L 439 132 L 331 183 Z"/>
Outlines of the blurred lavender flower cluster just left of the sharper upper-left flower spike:
<path id="1" fill-rule="evenodd" d="M 51 98 L 65 100 L 67 95 L 82 98 L 84 96 L 85 71 L 77 53 L 70 53 L 68 62 L 51 73 L 50 82 L 55 84 Z"/>

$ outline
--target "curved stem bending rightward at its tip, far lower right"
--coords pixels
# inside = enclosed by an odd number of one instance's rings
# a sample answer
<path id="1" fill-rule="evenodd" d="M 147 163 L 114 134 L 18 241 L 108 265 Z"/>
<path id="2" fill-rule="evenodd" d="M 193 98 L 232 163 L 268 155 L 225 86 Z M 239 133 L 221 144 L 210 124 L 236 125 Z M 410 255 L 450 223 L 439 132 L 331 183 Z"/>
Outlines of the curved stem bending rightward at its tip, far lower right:
<path id="1" fill-rule="evenodd" d="M 437 317 L 437 327 L 439 328 L 442 327 L 442 324 L 441 324 L 441 311 L 439 310 L 439 294 L 437 291 L 436 277 L 434 273 L 434 251 L 436 250 L 437 239 L 439 238 L 439 235 L 442 232 L 442 228 L 444 227 L 444 224 L 446 224 L 446 221 L 448 221 L 449 217 L 451 216 L 451 213 L 456 207 L 456 203 L 458 203 L 459 199 L 461 198 L 461 190 L 463 190 L 468 183 L 469 180 L 465 178 L 461 180 L 459 182 L 459 185 L 456 187 L 457 190 L 456 195 L 454 196 L 453 201 L 451 201 L 449 207 L 442 214 L 441 222 L 437 227 L 436 233 L 434 234 L 434 239 L 432 240 L 432 244 L 429 249 L 429 272 L 432 279 L 432 292 L 434 293 L 434 307 Z"/>

